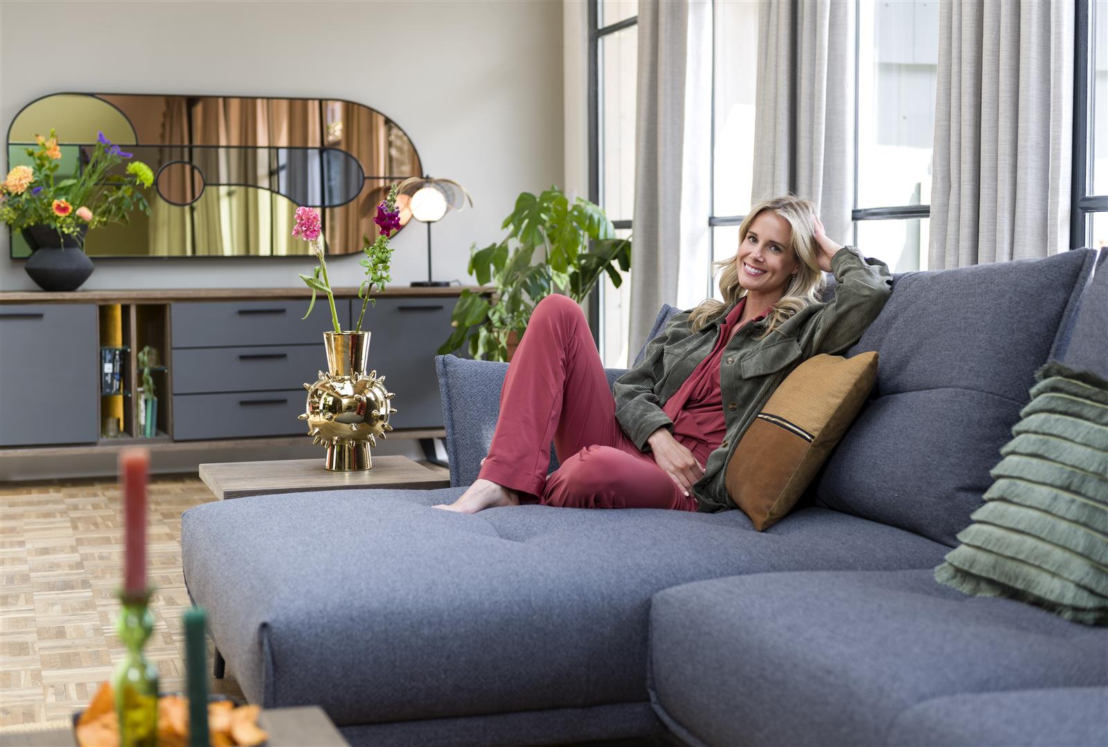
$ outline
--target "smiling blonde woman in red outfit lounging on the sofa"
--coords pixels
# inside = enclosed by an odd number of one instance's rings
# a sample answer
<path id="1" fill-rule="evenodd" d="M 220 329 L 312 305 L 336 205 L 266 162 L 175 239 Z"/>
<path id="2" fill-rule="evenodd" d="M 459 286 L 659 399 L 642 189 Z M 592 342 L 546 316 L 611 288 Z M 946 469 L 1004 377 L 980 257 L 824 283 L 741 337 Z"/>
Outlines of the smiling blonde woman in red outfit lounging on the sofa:
<path id="1" fill-rule="evenodd" d="M 716 270 L 724 300 L 675 315 L 614 398 L 581 308 L 558 295 L 540 301 L 480 477 L 438 508 L 733 509 L 724 467 L 742 433 L 800 362 L 861 337 L 892 277 L 828 238 L 814 205 L 793 196 L 751 208 Z M 825 303 L 823 273 L 838 282 Z M 551 441 L 561 467 L 547 475 Z"/>

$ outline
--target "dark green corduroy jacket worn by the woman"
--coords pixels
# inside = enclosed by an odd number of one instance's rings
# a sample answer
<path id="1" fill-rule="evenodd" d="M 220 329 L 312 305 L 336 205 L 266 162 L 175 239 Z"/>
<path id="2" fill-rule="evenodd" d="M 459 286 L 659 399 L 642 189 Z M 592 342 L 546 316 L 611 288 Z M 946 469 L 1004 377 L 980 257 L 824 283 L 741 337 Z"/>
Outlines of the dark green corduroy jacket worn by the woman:
<path id="1" fill-rule="evenodd" d="M 809 305 L 765 339 L 757 338 L 768 320 L 748 324 L 727 344 L 719 364 L 727 432 L 693 487 L 701 511 L 736 508 L 727 494 L 724 468 L 784 377 L 814 355 L 839 354 L 856 342 L 892 294 L 892 275 L 885 264 L 863 257 L 854 247 L 835 253 L 831 272 L 838 286 L 830 301 Z M 732 308 L 733 304 L 698 332 L 689 325 L 689 311 L 675 315 L 647 344 L 643 360 L 616 379 L 616 419 L 640 450 L 649 449 L 646 439 L 657 429 L 673 430 L 661 408 L 711 352 L 719 323 Z"/>

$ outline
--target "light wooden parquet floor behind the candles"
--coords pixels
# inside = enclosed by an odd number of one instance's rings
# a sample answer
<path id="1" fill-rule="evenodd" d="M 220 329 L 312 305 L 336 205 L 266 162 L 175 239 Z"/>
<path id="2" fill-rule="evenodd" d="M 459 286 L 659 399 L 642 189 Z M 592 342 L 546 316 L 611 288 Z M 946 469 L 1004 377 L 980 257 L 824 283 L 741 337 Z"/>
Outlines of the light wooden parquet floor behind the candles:
<path id="1" fill-rule="evenodd" d="M 163 690 L 185 689 L 181 513 L 214 500 L 196 477 L 150 484 L 146 656 Z M 111 677 L 123 582 L 123 514 L 114 479 L 0 483 L 0 728 L 66 722 Z M 212 646 L 208 643 L 208 658 Z M 228 672 L 213 693 L 242 696 Z"/>

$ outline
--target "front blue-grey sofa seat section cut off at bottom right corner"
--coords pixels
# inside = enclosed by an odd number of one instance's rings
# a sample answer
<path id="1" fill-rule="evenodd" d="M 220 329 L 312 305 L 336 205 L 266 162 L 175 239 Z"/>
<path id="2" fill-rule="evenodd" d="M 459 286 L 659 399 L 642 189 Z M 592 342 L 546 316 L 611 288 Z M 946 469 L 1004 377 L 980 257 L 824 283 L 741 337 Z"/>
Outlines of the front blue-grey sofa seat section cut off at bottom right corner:
<path id="1" fill-rule="evenodd" d="M 889 745 L 1108 746 L 1108 687 L 948 695 L 901 713 Z"/>

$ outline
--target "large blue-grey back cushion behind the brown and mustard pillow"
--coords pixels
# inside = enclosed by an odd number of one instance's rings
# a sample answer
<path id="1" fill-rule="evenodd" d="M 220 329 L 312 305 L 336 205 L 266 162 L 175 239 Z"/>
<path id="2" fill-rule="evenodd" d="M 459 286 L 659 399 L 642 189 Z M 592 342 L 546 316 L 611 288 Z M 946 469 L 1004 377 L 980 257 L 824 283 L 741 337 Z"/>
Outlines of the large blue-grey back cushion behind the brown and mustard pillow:
<path id="1" fill-rule="evenodd" d="M 819 503 L 956 544 L 1094 258 L 897 276 L 848 351 L 879 351 L 878 383 L 815 484 Z"/>

